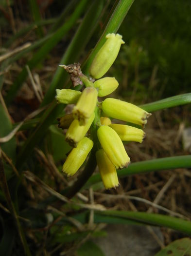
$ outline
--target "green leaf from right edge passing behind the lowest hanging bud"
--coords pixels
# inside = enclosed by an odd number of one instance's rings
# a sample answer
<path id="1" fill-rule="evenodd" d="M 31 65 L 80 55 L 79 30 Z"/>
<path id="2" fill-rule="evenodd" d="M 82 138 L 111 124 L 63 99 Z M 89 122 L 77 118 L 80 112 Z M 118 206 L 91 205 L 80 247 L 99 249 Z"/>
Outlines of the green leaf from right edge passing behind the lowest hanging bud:
<path id="1" fill-rule="evenodd" d="M 118 170 L 118 177 L 128 177 L 133 174 L 162 171 L 176 168 L 191 168 L 191 156 L 176 156 L 169 158 L 158 158 L 137 163 L 131 163 L 127 168 Z M 89 178 L 84 189 L 102 180 L 100 174 L 95 174 Z"/>

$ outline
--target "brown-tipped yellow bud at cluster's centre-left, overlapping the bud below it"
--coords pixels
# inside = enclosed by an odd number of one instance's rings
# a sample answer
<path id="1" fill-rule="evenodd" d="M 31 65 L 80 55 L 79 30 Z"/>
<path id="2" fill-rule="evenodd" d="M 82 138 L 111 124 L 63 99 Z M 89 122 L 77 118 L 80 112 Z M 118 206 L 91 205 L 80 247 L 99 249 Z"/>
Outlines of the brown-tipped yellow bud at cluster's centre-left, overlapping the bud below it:
<path id="1" fill-rule="evenodd" d="M 76 106 L 73 108 L 73 117 L 80 125 L 85 125 L 94 112 L 98 91 L 94 87 L 87 87 L 82 92 Z"/>

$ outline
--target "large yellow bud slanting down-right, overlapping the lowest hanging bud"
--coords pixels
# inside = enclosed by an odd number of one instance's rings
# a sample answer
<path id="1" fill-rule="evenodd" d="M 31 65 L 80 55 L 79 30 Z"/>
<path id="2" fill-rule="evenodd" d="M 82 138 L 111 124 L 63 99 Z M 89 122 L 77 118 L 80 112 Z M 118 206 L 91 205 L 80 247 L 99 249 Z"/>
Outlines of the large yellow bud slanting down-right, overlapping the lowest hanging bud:
<path id="1" fill-rule="evenodd" d="M 122 169 L 130 163 L 121 138 L 111 127 L 107 125 L 99 127 L 97 136 L 105 154 L 117 169 Z"/>

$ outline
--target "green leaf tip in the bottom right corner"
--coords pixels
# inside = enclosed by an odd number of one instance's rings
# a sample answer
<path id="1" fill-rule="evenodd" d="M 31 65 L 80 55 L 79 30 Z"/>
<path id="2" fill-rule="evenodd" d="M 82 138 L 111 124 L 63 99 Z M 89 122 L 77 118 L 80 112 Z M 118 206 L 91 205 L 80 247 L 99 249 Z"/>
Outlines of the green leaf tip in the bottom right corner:
<path id="1" fill-rule="evenodd" d="M 178 239 L 155 256 L 191 256 L 191 239 L 189 237 Z"/>

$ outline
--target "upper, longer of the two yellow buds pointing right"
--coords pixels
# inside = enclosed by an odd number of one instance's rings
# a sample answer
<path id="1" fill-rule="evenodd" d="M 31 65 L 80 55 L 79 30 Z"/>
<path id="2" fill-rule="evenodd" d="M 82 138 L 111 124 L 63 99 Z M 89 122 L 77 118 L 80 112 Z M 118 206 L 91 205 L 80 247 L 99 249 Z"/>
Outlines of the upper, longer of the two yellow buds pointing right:
<path id="1" fill-rule="evenodd" d="M 123 121 L 136 123 L 144 126 L 150 113 L 133 105 L 116 98 L 106 98 L 102 102 L 102 110 L 109 117 L 117 118 Z"/>

